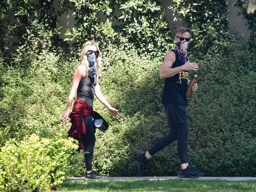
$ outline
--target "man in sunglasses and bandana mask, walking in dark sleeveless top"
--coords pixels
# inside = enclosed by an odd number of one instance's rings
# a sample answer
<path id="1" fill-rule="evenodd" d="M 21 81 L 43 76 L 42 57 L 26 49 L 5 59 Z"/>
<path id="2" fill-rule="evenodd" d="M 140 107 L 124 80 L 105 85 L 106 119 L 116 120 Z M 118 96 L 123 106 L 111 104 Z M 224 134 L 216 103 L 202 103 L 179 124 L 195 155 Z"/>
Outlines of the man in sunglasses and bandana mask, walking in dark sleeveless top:
<path id="1" fill-rule="evenodd" d="M 196 178 L 203 176 L 203 172 L 197 172 L 188 165 L 188 123 L 186 107 L 188 105 L 185 91 L 189 83 L 189 70 L 197 70 L 198 65 L 188 61 L 187 48 L 190 41 L 191 30 L 181 26 L 176 30 L 176 46 L 165 56 L 159 75 L 165 79 L 162 92 L 162 103 L 165 107 L 169 135 L 160 138 L 150 149 L 136 154 L 138 161 L 139 176 L 144 176 L 144 169 L 148 160 L 159 150 L 177 140 L 178 155 L 181 170 L 178 177 Z M 196 91 L 197 84 L 192 87 Z"/>

